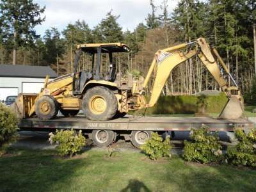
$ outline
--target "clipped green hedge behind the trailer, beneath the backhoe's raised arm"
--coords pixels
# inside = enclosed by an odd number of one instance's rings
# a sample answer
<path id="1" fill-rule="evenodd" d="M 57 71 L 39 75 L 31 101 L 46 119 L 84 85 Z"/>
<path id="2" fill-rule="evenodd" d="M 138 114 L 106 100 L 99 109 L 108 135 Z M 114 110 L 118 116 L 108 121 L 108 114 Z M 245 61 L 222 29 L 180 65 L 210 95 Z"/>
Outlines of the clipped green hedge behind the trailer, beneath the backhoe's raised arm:
<path id="1" fill-rule="evenodd" d="M 162 96 L 156 105 L 148 108 L 146 115 L 154 114 L 194 114 L 198 113 L 196 95 Z M 228 99 L 225 93 L 207 96 L 206 113 L 221 113 Z M 136 111 L 134 114 L 144 113 L 145 109 Z"/>

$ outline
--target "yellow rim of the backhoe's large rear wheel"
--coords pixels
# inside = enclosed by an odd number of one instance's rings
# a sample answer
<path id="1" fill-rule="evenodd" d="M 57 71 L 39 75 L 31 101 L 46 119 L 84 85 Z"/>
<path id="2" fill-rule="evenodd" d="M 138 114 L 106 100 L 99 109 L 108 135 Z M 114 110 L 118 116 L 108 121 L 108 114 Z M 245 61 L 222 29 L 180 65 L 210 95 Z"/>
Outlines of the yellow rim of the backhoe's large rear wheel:
<path id="1" fill-rule="evenodd" d="M 94 114 L 103 113 L 107 108 L 106 100 L 100 95 L 94 95 L 89 101 L 89 108 Z"/>

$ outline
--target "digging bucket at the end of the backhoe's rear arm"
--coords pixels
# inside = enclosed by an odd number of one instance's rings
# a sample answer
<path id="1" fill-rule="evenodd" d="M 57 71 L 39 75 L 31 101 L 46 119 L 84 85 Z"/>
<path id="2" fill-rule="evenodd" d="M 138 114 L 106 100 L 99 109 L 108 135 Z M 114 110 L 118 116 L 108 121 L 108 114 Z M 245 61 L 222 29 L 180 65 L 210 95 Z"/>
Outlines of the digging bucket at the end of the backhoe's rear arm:
<path id="1" fill-rule="evenodd" d="M 243 102 L 237 99 L 237 97 L 230 97 L 219 117 L 224 119 L 237 119 L 242 116 L 243 112 Z"/>

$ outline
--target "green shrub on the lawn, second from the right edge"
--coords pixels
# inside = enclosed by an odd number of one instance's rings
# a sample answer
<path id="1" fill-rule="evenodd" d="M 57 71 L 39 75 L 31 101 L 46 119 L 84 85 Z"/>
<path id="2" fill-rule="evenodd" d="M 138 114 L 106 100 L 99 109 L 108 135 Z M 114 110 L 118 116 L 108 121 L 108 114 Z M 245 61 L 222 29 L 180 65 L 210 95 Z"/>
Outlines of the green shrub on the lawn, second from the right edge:
<path id="1" fill-rule="evenodd" d="M 213 163 L 222 158 L 221 145 L 218 143 L 218 136 L 211 134 L 208 127 L 192 129 L 190 136 L 192 141 L 184 141 L 184 154 L 186 161 L 198 163 Z"/>

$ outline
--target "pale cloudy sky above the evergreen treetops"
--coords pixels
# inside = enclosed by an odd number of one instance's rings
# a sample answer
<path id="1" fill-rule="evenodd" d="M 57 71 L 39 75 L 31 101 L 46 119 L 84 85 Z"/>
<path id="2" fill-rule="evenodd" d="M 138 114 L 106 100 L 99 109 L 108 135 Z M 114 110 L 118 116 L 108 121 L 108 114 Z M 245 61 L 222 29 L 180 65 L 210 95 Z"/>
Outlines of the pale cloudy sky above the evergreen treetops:
<path id="1" fill-rule="evenodd" d="M 178 0 L 168 0 L 168 11 L 172 12 Z M 148 13 L 151 13 L 150 0 L 35 0 L 40 6 L 45 6 L 45 21 L 36 26 L 36 32 L 43 35 L 51 27 L 60 31 L 67 24 L 76 20 L 85 20 L 93 28 L 99 24 L 106 14 L 113 10 L 114 15 L 120 15 L 118 23 L 123 30 L 132 30 L 140 22 L 145 22 Z M 155 0 L 160 6 L 163 0 Z M 157 8 L 161 12 L 160 8 Z"/>

